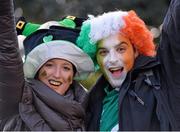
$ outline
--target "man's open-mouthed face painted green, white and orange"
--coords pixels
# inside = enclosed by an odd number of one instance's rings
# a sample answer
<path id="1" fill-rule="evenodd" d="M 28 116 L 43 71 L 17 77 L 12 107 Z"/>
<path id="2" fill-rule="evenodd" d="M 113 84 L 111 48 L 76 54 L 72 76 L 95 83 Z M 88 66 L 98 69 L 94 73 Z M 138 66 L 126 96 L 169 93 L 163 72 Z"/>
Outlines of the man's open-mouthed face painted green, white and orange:
<path id="1" fill-rule="evenodd" d="M 120 87 L 132 69 L 136 53 L 122 35 L 112 35 L 98 43 L 97 62 L 112 87 Z"/>

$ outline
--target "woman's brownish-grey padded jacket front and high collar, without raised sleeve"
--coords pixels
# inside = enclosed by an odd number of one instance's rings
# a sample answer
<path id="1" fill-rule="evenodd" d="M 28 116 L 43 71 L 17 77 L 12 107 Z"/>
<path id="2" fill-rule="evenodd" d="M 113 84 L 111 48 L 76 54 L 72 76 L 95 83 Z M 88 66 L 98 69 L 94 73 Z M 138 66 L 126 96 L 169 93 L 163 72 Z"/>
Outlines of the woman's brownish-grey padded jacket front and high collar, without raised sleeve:
<path id="1" fill-rule="evenodd" d="M 77 99 L 75 94 L 84 96 L 85 91 L 78 90 L 80 87 L 73 87 L 75 91 L 70 88 L 65 97 L 41 81 L 35 79 L 27 81 L 26 88 L 32 91 L 33 103 L 28 105 L 26 102 L 21 103 L 19 111 L 23 121 L 31 130 L 84 130 L 85 111 L 81 102 L 83 100 Z M 75 85 L 75 82 L 73 84 Z M 23 96 L 25 95 L 26 93 L 23 93 Z"/>

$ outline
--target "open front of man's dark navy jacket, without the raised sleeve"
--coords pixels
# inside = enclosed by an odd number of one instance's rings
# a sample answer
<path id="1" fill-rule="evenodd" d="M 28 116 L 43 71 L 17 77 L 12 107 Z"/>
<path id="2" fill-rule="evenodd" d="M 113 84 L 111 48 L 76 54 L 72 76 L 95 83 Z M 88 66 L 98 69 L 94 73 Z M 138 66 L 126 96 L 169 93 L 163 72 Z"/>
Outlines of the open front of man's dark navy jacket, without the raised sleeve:
<path id="1" fill-rule="evenodd" d="M 153 72 L 153 79 L 159 75 L 160 64 L 156 58 L 140 56 L 134 69 L 128 73 L 119 90 L 119 129 L 121 130 L 171 130 L 174 118 L 170 108 L 166 88 L 152 86 L 146 74 Z M 104 84 L 104 85 L 102 85 Z M 108 84 L 102 76 L 89 93 L 87 107 L 87 130 L 99 130 L 102 112 L 103 88 Z M 169 106 L 168 106 L 169 107 Z"/>

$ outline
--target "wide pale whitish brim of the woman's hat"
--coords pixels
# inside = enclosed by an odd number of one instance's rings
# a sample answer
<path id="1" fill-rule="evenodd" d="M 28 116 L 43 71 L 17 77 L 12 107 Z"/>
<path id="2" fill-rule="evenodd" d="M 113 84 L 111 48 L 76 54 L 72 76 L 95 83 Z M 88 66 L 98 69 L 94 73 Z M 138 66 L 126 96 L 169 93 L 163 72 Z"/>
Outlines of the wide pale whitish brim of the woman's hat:
<path id="1" fill-rule="evenodd" d="M 26 78 L 34 78 L 38 70 L 50 59 L 60 58 L 71 62 L 76 67 L 76 80 L 85 79 L 94 71 L 91 58 L 75 44 L 54 40 L 35 47 L 24 62 L 24 74 Z"/>

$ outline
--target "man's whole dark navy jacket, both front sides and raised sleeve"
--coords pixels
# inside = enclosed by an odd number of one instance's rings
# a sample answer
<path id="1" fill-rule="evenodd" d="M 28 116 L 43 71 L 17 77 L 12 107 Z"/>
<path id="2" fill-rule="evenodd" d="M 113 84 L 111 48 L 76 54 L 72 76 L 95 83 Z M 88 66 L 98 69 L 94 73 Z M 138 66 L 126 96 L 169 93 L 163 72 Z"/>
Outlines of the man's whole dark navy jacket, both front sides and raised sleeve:
<path id="1" fill-rule="evenodd" d="M 87 130 L 100 129 L 106 84 L 101 77 L 89 92 Z M 180 130 L 179 97 L 180 1 L 171 0 L 156 58 L 139 56 L 119 90 L 119 130 Z"/>

